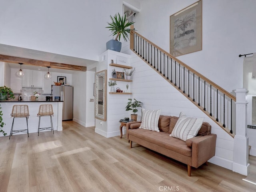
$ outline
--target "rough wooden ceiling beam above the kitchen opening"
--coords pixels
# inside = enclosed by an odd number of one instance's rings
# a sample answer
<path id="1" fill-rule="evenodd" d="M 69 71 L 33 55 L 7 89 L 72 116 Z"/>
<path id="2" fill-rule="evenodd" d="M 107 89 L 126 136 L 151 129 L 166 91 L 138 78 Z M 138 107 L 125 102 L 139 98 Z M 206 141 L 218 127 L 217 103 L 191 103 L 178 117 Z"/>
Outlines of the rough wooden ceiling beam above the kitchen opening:
<path id="1" fill-rule="evenodd" d="M 86 71 L 85 66 L 56 63 L 56 62 L 50 62 L 50 61 L 41 61 L 41 60 L 14 57 L 14 56 L 1 55 L 1 54 L 0 54 L 0 62 L 23 63 L 26 65 L 34 65 L 34 66 L 41 66 L 41 67 L 50 66 L 51 68 L 58 68 L 58 69 Z"/>

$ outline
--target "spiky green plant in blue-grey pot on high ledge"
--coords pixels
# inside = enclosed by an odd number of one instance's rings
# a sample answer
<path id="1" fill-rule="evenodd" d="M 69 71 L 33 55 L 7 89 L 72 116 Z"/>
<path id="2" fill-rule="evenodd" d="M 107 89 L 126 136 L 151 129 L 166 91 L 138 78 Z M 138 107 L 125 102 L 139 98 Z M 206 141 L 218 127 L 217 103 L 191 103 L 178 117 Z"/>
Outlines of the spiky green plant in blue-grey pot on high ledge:
<path id="1" fill-rule="evenodd" d="M 124 38 L 124 41 L 127 41 L 128 33 L 130 33 L 130 26 L 134 22 L 129 22 L 126 18 L 126 15 L 120 16 L 120 14 L 115 14 L 113 17 L 110 15 L 111 22 L 108 22 L 108 28 L 112 36 L 116 36 L 115 39 L 109 40 L 106 43 L 107 50 L 121 51 L 122 43 L 120 42 L 121 36 Z M 119 41 L 118 41 L 119 40 Z"/>

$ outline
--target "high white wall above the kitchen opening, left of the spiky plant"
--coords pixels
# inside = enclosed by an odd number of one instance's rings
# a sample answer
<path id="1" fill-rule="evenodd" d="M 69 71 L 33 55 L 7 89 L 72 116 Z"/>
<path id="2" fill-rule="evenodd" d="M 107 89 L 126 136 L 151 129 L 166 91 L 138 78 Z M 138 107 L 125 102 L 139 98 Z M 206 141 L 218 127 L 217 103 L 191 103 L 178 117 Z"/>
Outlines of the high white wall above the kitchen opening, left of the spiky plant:
<path id="1" fill-rule="evenodd" d="M 116 12 L 122 0 L 1 1 L 0 44 L 98 60 Z"/>

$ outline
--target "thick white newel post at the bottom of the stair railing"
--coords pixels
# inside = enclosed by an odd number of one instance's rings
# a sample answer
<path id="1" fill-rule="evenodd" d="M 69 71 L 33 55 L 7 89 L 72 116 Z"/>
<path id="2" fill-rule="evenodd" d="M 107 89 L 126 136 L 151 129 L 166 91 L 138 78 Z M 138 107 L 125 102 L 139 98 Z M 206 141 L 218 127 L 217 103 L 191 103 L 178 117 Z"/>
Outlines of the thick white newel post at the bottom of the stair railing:
<path id="1" fill-rule="evenodd" d="M 236 135 L 234 137 L 233 171 L 242 175 L 249 173 L 249 137 L 247 136 L 247 100 L 248 90 L 239 88 L 236 93 Z"/>

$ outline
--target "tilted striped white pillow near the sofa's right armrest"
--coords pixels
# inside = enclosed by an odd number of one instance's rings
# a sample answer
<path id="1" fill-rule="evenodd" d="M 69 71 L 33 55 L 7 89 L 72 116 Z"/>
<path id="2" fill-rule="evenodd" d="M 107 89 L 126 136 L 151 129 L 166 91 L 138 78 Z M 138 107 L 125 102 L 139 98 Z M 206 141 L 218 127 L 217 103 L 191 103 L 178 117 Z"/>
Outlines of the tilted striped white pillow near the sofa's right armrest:
<path id="1" fill-rule="evenodd" d="M 170 136 L 179 138 L 183 141 L 193 138 L 197 135 L 203 124 L 204 118 L 187 117 L 180 113 L 180 117 L 175 124 Z"/>

